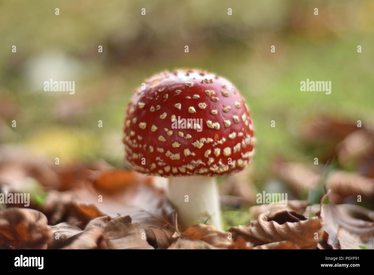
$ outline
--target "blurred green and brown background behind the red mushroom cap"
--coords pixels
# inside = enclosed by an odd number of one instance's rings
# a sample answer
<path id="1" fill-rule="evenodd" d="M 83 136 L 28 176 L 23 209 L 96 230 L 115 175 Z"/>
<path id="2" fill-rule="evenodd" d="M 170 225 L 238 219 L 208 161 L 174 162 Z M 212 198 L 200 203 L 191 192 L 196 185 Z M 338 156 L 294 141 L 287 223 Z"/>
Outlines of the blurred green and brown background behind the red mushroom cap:
<path id="1" fill-rule="evenodd" d="M 202 68 L 245 97 L 262 184 L 276 155 L 306 161 L 295 137 L 307 119 L 373 120 L 373 13 L 371 0 L 1 1 L 0 142 L 60 164 L 103 158 L 123 167 L 131 91 L 160 70 Z M 74 80 L 75 94 L 43 91 L 50 78 Z M 331 81 L 331 94 L 301 92 L 307 78 Z"/>

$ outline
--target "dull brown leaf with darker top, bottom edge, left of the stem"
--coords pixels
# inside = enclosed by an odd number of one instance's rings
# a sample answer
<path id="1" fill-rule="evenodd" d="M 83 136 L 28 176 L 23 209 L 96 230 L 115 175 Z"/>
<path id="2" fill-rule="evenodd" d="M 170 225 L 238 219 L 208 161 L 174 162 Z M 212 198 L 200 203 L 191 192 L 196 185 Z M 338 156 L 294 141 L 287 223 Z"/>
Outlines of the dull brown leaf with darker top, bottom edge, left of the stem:
<path id="1" fill-rule="evenodd" d="M 145 230 L 131 223 L 130 216 L 116 217 L 105 224 L 104 236 L 109 249 L 154 249 L 148 244 Z"/>

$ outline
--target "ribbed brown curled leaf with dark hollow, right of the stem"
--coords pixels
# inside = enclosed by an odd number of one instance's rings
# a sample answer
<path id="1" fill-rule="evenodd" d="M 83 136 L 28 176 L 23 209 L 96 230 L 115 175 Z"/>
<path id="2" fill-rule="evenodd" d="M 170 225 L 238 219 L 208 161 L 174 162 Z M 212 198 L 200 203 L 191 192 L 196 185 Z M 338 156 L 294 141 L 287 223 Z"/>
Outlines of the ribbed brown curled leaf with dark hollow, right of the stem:
<path id="1" fill-rule="evenodd" d="M 307 219 L 294 211 L 270 216 L 267 211 L 246 226 L 231 227 L 234 240 L 241 236 L 254 245 L 290 241 L 301 249 L 314 249 L 323 235 L 323 224 L 317 217 Z"/>

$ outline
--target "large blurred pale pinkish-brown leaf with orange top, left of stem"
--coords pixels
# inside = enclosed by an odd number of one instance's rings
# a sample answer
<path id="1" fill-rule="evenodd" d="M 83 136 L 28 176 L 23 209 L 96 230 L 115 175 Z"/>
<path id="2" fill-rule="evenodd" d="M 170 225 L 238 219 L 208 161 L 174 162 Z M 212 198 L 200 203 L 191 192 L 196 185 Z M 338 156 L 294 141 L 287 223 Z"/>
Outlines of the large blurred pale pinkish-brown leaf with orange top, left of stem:
<path id="1" fill-rule="evenodd" d="M 108 185 L 113 175 L 129 175 L 130 178 L 138 177 L 136 172 L 107 171 L 100 176 L 100 186 L 106 181 Z M 109 175 L 106 176 L 105 174 Z M 135 175 L 133 175 L 135 174 Z M 153 185 L 154 177 L 144 177 L 144 181 L 128 181 L 117 192 L 107 193 L 102 188 L 96 189 L 91 184 L 81 185 L 79 188 L 71 190 L 74 195 L 73 201 L 77 204 L 93 204 L 99 211 L 111 217 L 120 215 L 130 215 L 133 222 L 142 226 L 164 227 L 165 224 L 172 224 L 172 214 L 174 209 L 168 201 L 165 191 Z M 105 180 L 104 180 L 105 179 Z M 96 183 L 97 184 L 97 183 Z M 117 185 L 117 184 L 116 184 Z M 102 198 L 99 201 L 98 198 Z"/>

